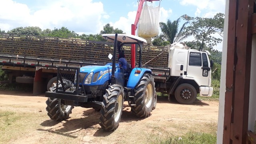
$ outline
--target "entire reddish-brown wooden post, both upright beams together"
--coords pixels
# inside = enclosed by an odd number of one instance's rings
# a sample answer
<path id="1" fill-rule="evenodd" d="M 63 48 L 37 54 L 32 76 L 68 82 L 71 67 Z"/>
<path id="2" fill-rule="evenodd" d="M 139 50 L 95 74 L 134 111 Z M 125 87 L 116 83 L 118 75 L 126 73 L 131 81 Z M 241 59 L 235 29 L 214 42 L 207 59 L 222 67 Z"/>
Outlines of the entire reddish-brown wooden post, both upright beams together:
<path id="1" fill-rule="evenodd" d="M 245 144 L 254 0 L 230 0 L 223 144 Z"/>

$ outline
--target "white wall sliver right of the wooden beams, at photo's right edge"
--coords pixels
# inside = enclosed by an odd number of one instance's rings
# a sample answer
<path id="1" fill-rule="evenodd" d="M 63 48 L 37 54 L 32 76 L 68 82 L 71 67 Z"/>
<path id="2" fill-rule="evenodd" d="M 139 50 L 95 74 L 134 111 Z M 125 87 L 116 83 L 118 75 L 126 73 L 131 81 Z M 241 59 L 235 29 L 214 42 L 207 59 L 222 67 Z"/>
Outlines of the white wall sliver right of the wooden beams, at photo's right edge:
<path id="1" fill-rule="evenodd" d="M 248 130 L 254 132 L 254 123 L 256 121 L 256 34 L 252 36 L 252 61 L 250 77 L 250 100 L 249 100 L 249 120 Z"/>

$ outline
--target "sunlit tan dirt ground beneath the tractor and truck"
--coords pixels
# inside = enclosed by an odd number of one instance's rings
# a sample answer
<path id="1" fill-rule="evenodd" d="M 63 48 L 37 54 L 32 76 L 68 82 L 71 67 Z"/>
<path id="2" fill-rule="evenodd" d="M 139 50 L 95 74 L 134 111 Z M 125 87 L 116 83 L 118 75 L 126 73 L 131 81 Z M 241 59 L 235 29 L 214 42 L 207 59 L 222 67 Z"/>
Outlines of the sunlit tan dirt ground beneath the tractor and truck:
<path id="1" fill-rule="evenodd" d="M 183 105 L 159 97 L 152 115 L 144 119 L 134 116 L 125 102 L 119 127 L 114 132 L 105 132 L 99 125 L 99 112 L 92 108 L 75 107 L 68 120 L 54 122 L 47 116 L 46 99 L 44 94 L 0 91 L 1 111 L 26 116 L 20 118 L 19 130 L 13 126 L 2 135 L 5 143 L 145 144 L 157 143 L 168 136 L 182 136 L 188 131 L 217 129 L 218 102 L 197 100 L 192 105 Z"/>

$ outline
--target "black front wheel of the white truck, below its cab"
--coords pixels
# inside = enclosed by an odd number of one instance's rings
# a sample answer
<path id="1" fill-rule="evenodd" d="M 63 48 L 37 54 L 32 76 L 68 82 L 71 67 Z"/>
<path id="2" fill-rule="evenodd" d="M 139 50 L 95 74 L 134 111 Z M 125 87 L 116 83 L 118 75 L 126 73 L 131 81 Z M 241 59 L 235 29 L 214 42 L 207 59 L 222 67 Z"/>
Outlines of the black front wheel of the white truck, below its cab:
<path id="1" fill-rule="evenodd" d="M 180 84 L 175 90 L 175 98 L 181 104 L 192 104 L 196 95 L 196 89 L 191 84 Z"/>

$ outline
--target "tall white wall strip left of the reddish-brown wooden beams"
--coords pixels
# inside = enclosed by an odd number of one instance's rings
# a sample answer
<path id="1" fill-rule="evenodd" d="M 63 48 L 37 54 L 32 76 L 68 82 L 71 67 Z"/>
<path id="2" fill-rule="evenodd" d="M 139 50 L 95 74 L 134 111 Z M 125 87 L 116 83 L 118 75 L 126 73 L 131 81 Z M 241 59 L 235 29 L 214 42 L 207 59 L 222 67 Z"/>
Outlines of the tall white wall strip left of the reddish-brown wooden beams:
<path id="1" fill-rule="evenodd" d="M 217 144 L 222 144 L 222 140 L 223 140 L 227 47 L 228 47 L 228 7 L 229 7 L 229 0 L 226 0 L 224 36 L 223 36 L 223 47 L 222 47 L 222 62 L 221 62 L 221 77 L 220 77 L 220 98 L 219 98 Z"/>

